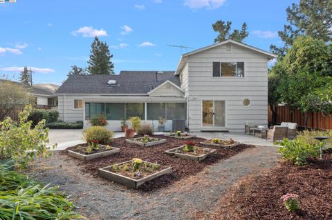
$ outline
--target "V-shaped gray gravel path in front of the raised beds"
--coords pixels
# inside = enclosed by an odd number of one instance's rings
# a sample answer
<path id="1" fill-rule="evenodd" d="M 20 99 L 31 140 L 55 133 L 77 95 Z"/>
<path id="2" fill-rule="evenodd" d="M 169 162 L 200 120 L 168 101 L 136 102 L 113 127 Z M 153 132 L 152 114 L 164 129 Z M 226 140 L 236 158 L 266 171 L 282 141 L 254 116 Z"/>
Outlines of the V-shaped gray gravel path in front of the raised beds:
<path id="1" fill-rule="evenodd" d="M 214 210 L 220 197 L 247 174 L 277 165 L 276 147 L 248 148 L 230 159 L 206 167 L 196 174 L 153 192 L 130 190 L 118 183 L 77 169 L 78 161 L 55 153 L 38 161 L 30 175 L 59 186 L 76 199 L 89 219 L 194 219 L 195 213 Z"/>

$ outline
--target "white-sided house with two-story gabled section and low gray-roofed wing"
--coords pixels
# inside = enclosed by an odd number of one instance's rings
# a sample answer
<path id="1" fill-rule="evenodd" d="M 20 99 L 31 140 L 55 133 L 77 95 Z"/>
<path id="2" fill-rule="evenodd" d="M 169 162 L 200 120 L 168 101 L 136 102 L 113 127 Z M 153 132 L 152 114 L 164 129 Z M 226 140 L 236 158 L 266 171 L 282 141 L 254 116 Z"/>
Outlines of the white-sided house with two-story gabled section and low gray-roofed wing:
<path id="1" fill-rule="evenodd" d="M 72 75 L 59 87 L 59 118 L 84 121 L 104 114 L 110 130 L 139 116 L 158 126 L 165 117 L 185 119 L 190 131 L 243 131 L 244 121 L 268 124 L 270 52 L 223 41 L 183 54 L 176 71 L 121 71 L 118 75 Z"/>

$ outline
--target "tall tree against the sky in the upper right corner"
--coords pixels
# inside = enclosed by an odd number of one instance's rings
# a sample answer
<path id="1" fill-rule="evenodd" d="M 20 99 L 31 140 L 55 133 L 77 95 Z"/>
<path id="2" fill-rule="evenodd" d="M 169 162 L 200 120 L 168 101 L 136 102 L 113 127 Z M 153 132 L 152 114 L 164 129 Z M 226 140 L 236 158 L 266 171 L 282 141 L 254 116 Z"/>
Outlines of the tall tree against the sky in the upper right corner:
<path id="1" fill-rule="evenodd" d="M 270 50 L 286 55 L 287 49 L 300 35 L 308 35 L 324 42 L 332 40 L 332 1 L 331 0 L 300 0 L 299 4 L 293 3 L 286 9 L 288 23 L 284 30 L 279 31 L 279 37 L 284 41 L 284 46 L 278 48 L 270 46 Z"/>

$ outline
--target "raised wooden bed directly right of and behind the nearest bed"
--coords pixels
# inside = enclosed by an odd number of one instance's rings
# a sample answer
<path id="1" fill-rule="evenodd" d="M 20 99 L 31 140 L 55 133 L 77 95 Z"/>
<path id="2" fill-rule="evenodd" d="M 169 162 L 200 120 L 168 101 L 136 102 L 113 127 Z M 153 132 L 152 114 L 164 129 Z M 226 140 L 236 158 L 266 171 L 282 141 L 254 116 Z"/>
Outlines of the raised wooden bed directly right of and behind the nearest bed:
<path id="1" fill-rule="evenodd" d="M 190 159 L 193 161 L 202 161 L 203 159 L 207 158 L 210 154 L 216 154 L 216 150 L 211 148 L 200 148 L 200 147 L 194 147 L 196 150 L 194 152 L 187 152 L 185 151 L 185 145 L 166 150 L 166 154 L 175 156 L 175 157 L 181 157 L 183 159 Z"/>

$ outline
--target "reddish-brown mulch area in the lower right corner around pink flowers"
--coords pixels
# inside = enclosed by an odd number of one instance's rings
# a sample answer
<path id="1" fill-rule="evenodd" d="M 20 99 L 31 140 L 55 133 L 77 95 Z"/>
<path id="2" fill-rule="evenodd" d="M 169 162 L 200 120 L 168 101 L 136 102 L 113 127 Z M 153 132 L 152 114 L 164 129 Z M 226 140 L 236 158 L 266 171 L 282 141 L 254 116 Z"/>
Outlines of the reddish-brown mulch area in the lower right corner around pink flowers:
<path id="1" fill-rule="evenodd" d="M 282 163 L 265 174 L 242 179 L 208 219 L 332 219 L 332 155 L 305 166 Z M 288 212 L 280 197 L 299 195 L 302 210 Z M 203 216 L 201 216 L 203 217 Z"/>

